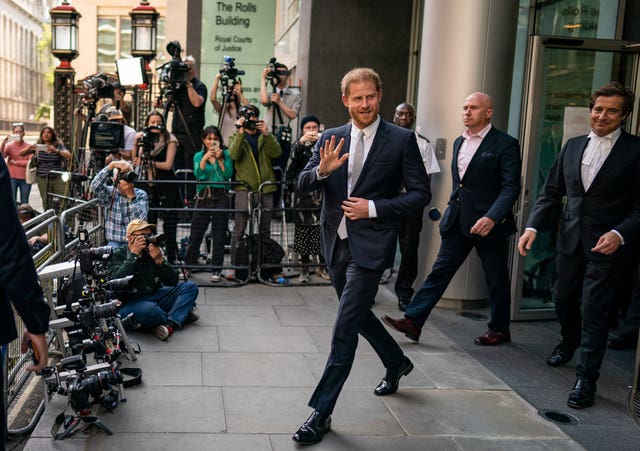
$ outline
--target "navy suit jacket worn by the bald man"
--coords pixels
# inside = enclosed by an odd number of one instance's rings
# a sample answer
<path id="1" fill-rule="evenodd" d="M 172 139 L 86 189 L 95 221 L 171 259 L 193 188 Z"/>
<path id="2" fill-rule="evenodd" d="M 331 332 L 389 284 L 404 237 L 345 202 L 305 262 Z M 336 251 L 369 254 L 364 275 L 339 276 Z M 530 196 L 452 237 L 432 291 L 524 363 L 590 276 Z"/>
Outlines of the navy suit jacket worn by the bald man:
<path id="1" fill-rule="evenodd" d="M 478 219 L 487 216 L 496 225 L 486 238 L 502 238 L 515 233 L 512 209 L 520 193 L 521 168 L 518 141 L 491 127 L 460 179 L 458 153 L 463 141 L 460 136 L 453 144 L 453 187 L 440 230 L 449 230 L 457 218 L 462 234 L 471 237 L 471 227 Z"/>

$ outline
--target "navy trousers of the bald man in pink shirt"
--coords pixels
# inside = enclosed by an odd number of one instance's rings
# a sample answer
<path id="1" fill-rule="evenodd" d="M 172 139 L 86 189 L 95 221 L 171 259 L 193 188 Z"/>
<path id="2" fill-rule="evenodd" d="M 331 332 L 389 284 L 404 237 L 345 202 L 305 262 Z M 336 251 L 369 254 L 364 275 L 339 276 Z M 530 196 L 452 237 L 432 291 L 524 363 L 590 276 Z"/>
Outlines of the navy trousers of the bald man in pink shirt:
<path id="1" fill-rule="evenodd" d="M 413 297 L 405 316 L 411 318 L 418 327 L 424 326 L 451 279 L 475 247 L 489 288 L 489 329 L 507 332 L 511 309 L 508 237 L 468 237 L 462 233 L 458 220 L 449 230 L 440 231 L 440 237 L 442 241 L 433 269 Z"/>

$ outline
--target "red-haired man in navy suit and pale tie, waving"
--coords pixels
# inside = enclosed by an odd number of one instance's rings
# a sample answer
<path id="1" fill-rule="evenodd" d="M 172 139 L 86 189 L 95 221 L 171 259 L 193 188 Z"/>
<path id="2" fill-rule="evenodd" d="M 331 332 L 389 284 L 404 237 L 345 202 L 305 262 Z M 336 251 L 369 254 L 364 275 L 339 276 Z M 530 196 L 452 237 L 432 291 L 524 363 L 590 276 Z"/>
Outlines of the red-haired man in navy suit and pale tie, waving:
<path id="1" fill-rule="evenodd" d="M 331 352 L 309 401 L 314 411 L 293 436 L 300 444 L 317 443 L 331 429 L 330 415 L 351 371 L 358 334 L 386 368 L 376 395 L 394 393 L 413 369 L 371 307 L 382 272 L 393 263 L 400 217 L 429 203 L 429 180 L 414 133 L 378 115 L 378 74 L 353 69 L 343 77 L 341 90 L 351 123 L 324 132 L 298 179 L 300 191 L 323 192 L 322 252 L 340 299 Z M 401 186 L 406 193 L 400 193 Z"/>

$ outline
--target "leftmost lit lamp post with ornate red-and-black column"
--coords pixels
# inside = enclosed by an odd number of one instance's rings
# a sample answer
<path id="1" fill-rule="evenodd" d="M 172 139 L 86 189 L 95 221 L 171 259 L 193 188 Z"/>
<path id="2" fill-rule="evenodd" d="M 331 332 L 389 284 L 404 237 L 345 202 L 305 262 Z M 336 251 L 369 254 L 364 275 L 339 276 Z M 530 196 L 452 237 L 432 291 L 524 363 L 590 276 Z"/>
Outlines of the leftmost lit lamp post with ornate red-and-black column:
<path id="1" fill-rule="evenodd" d="M 54 70 L 54 128 L 67 145 L 71 143 L 73 85 L 76 71 L 71 61 L 78 52 L 78 19 L 80 13 L 64 0 L 49 11 L 51 16 L 51 54 L 60 60 Z"/>

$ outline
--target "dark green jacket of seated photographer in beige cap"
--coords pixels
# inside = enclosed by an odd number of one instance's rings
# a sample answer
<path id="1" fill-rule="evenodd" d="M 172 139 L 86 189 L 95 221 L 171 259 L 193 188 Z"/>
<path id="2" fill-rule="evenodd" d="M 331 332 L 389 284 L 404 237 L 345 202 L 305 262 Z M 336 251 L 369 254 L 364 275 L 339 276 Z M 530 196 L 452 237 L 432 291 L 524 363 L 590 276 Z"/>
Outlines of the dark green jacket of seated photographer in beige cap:
<path id="1" fill-rule="evenodd" d="M 133 275 L 134 293 L 116 293 L 122 301 L 135 301 L 154 293 L 163 286 L 176 286 L 178 284 L 178 272 L 166 261 L 162 265 L 156 265 L 149 254 L 138 257 L 127 247 L 121 247 L 113 251 L 109 259 L 109 277 L 119 279 Z"/>

